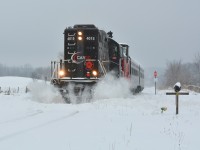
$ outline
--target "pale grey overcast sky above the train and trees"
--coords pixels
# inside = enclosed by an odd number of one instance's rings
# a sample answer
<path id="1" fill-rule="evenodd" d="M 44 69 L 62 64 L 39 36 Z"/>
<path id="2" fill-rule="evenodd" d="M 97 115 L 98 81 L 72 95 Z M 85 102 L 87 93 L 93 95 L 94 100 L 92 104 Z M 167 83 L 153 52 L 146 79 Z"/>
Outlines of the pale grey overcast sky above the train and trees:
<path id="1" fill-rule="evenodd" d="M 0 0 L 0 63 L 50 65 L 74 24 L 111 30 L 144 67 L 200 52 L 199 0 Z"/>

